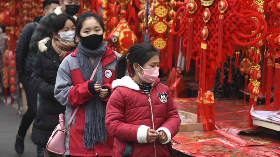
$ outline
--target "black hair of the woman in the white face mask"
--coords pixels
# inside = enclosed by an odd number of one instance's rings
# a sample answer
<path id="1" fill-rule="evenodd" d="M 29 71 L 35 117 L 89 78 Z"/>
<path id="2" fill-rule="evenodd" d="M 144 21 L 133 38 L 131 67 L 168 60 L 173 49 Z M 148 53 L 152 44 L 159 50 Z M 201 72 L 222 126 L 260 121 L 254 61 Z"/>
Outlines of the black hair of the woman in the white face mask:
<path id="1" fill-rule="evenodd" d="M 71 20 L 73 24 L 75 24 L 74 17 L 67 15 L 67 14 L 60 14 L 57 15 L 50 26 L 49 37 L 53 38 L 53 32 L 58 33 L 58 31 L 62 30 L 65 26 L 67 19 Z"/>

